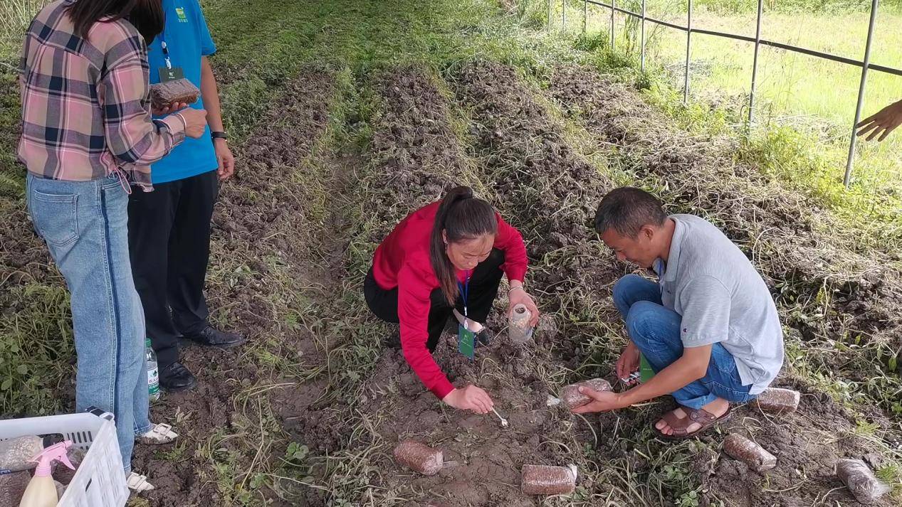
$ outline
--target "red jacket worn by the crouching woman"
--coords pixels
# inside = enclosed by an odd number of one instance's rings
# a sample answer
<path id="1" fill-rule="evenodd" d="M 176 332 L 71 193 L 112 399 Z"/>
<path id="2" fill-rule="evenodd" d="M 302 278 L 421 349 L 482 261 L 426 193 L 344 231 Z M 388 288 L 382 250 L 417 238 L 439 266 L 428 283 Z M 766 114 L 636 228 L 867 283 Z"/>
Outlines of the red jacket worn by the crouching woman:
<path id="1" fill-rule="evenodd" d="M 373 277 L 384 290 L 398 287 L 400 344 L 410 368 L 419 380 L 439 399 L 454 390 L 435 359 L 426 348 L 428 315 L 432 291 L 439 287 L 438 278 L 429 262 L 429 240 L 440 202 L 428 204 L 401 221 L 373 258 Z M 493 248 L 504 252 L 502 269 L 508 280 L 523 281 L 527 258 L 523 237 L 507 222 L 498 218 L 498 234 Z M 464 281 L 464 273 L 457 272 Z"/>

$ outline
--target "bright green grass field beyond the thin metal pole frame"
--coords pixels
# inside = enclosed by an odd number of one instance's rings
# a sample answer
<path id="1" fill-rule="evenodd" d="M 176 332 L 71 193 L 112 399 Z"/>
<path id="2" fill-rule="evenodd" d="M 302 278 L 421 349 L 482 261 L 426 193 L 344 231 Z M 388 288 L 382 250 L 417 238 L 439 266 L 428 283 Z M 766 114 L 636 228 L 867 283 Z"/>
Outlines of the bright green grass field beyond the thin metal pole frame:
<path id="1" fill-rule="evenodd" d="M 752 8 L 734 8 L 740 4 Z M 559 30 L 560 3 L 554 5 L 553 27 Z M 636 0 L 620 5 L 640 10 Z M 754 35 L 755 5 L 752 0 L 709 2 L 696 6 L 693 24 Z M 838 5 L 828 3 L 812 13 L 805 12 L 804 5 L 776 2 L 766 11 L 762 37 L 861 59 L 867 9 L 837 12 Z M 570 36 L 594 41 L 597 53 L 612 59 L 608 49 L 610 11 L 591 7 L 587 34 L 578 37 L 584 19 L 581 2 L 569 2 L 568 12 Z M 647 12 L 673 23 L 686 23 L 686 5 L 678 2 L 649 2 Z M 896 3 L 881 7 L 872 50 L 875 63 L 902 66 L 902 34 L 895 30 L 899 23 L 902 10 Z M 638 23 L 618 14 L 615 32 L 615 58 L 626 60 L 630 67 L 638 65 Z M 860 68 L 762 47 L 755 125 L 745 131 L 753 44 L 694 34 L 690 89 L 695 102 L 684 107 L 686 34 L 649 23 L 647 37 L 649 75 L 643 78 L 653 104 L 691 131 L 738 135 L 742 140 L 738 158 L 831 207 L 845 219 L 849 230 L 859 230 L 851 238 L 857 249 L 882 249 L 892 255 L 902 246 L 902 134 L 894 132 L 882 143 L 859 140 L 852 186 L 848 190 L 842 186 Z M 603 61 L 600 67 L 611 68 L 611 64 Z M 862 118 L 900 97 L 902 77 L 871 71 Z"/>

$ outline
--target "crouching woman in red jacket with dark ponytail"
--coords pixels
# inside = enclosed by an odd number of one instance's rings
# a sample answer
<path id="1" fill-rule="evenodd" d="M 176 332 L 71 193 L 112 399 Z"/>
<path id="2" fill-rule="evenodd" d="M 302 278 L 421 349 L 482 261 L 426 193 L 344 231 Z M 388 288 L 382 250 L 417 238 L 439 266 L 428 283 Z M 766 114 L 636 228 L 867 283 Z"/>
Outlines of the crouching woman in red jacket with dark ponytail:
<path id="1" fill-rule="evenodd" d="M 411 213 L 382 241 L 364 295 L 377 317 L 400 323 L 404 358 L 423 385 L 453 407 L 486 413 L 492 398 L 475 385 L 455 388 L 432 353 L 455 309 L 465 315 L 467 329 L 481 327 L 503 274 L 511 286 L 508 313 L 524 303 L 535 326 L 538 309 L 523 289 L 526 267 L 520 231 L 491 204 L 474 198 L 470 187 L 459 186 Z M 485 342 L 486 335 L 483 329 L 476 338 Z"/>

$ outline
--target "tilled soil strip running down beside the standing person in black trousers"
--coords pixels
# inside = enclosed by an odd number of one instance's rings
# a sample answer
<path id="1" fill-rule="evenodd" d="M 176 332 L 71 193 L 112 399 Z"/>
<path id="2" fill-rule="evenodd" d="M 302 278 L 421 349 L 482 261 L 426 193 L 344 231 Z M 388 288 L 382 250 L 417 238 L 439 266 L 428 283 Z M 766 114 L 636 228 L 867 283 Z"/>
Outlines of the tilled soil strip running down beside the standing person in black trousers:
<path id="1" fill-rule="evenodd" d="M 304 270 L 310 264 L 306 262 L 308 238 L 300 232 L 310 228 L 299 227 L 299 222 L 308 216 L 308 190 L 305 178 L 297 173 L 303 172 L 306 158 L 326 132 L 327 109 L 335 92 L 330 73 L 301 72 L 272 104 L 256 131 L 233 147 L 235 178 L 221 186 L 213 221 L 207 301 L 214 316 L 225 317 L 228 329 L 241 332 L 248 343 L 237 349 L 181 350 L 181 362 L 198 376 L 198 387 L 187 393 L 165 394 L 160 403 L 152 405 L 152 421 L 172 423 L 179 440 L 189 442 L 189 448 L 172 458 L 162 454 L 161 448 L 135 447 L 134 468 L 148 474 L 156 486 L 147 494 L 154 506 L 218 506 L 229 502 L 220 496 L 216 485 L 224 478 L 206 471 L 210 457 L 200 452 L 205 445 L 215 443 L 216 448 L 211 449 L 215 459 L 235 466 L 235 473 L 241 474 L 260 465 L 254 460 L 280 465 L 278 457 L 284 452 L 281 436 L 265 433 L 253 439 L 253 430 L 273 417 L 289 433 L 301 434 L 300 441 L 315 438 L 315 431 L 304 435 L 308 428 L 291 419 L 299 412 L 286 412 L 303 405 L 306 386 L 262 394 L 269 396 L 275 413 L 257 410 L 257 403 L 242 405 L 238 397 L 260 383 L 292 382 L 269 378 L 272 369 L 253 359 L 255 349 L 299 364 L 318 354 L 309 333 L 286 326 L 288 309 L 277 307 L 272 294 L 292 294 L 295 291 L 287 286 L 289 280 L 292 285 L 303 284 L 314 276 Z M 290 122 L 285 121 L 287 118 Z M 301 307 L 294 300 L 279 303 Z M 244 440 L 245 433 L 250 434 L 253 445 Z M 216 434 L 223 438 L 216 439 Z M 265 439 L 266 446 L 261 456 L 254 457 L 261 445 L 259 439 Z M 236 483 L 243 479 L 228 477 Z M 308 504 L 321 504 L 320 496 L 310 490 Z"/>

